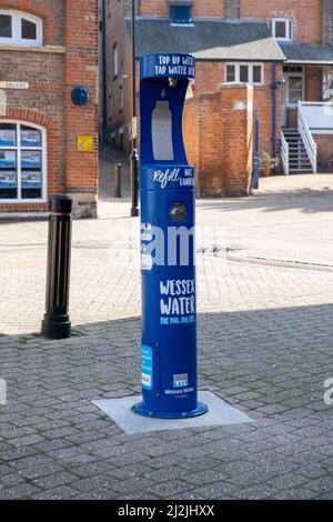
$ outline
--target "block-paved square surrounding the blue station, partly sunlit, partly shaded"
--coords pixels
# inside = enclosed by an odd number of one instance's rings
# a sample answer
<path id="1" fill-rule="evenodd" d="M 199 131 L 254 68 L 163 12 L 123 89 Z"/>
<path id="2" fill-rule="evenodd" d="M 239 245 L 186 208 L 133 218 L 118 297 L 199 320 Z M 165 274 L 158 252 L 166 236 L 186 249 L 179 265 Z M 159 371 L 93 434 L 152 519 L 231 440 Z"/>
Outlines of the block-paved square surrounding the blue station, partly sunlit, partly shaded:
<path id="1" fill-rule="evenodd" d="M 119 158 L 102 154 L 100 219 L 73 223 L 71 339 L 39 335 L 47 222 L 0 224 L 0 499 L 333 499 L 333 175 L 198 201 L 200 389 L 254 422 L 129 435 L 91 404 L 140 393 L 139 220 L 129 175 L 120 201 L 108 184 Z"/>

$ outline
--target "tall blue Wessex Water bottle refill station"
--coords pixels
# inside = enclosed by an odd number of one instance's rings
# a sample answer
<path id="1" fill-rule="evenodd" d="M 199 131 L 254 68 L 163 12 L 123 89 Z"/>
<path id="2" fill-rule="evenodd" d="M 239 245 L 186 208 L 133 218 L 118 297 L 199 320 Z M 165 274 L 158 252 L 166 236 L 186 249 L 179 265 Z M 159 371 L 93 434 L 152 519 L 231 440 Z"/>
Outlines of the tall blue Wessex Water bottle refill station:
<path id="1" fill-rule="evenodd" d="M 182 139 L 182 116 L 195 60 L 141 59 L 142 395 L 140 415 L 202 415 L 198 402 L 195 181 Z"/>

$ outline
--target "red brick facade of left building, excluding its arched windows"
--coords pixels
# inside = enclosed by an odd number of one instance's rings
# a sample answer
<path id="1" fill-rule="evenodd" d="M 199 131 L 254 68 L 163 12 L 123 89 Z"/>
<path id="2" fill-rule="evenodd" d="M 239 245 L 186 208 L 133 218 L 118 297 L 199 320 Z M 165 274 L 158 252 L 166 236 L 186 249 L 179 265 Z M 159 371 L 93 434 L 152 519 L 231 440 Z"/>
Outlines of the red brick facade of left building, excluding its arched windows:
<path id="1" fill-rule="evenodd" d="M 42 19 L 39 47 L 0 44 L 0 81 L 27 82 L 28 89 L 4 89 L 3 120 L 46 129 L 48 191 L 43 201 L 6 200 L 0 211 L 44 210 L 48 197 L 73 197 L 78 215 L 97 214 L 98 193 L 98 0 L 0 0 L 8 9 Z M 89 89 L 84 107 L 71 101 L 75 86 Z M 78 152 L 78 135 L 91 135 L 92 152 Z"/>

